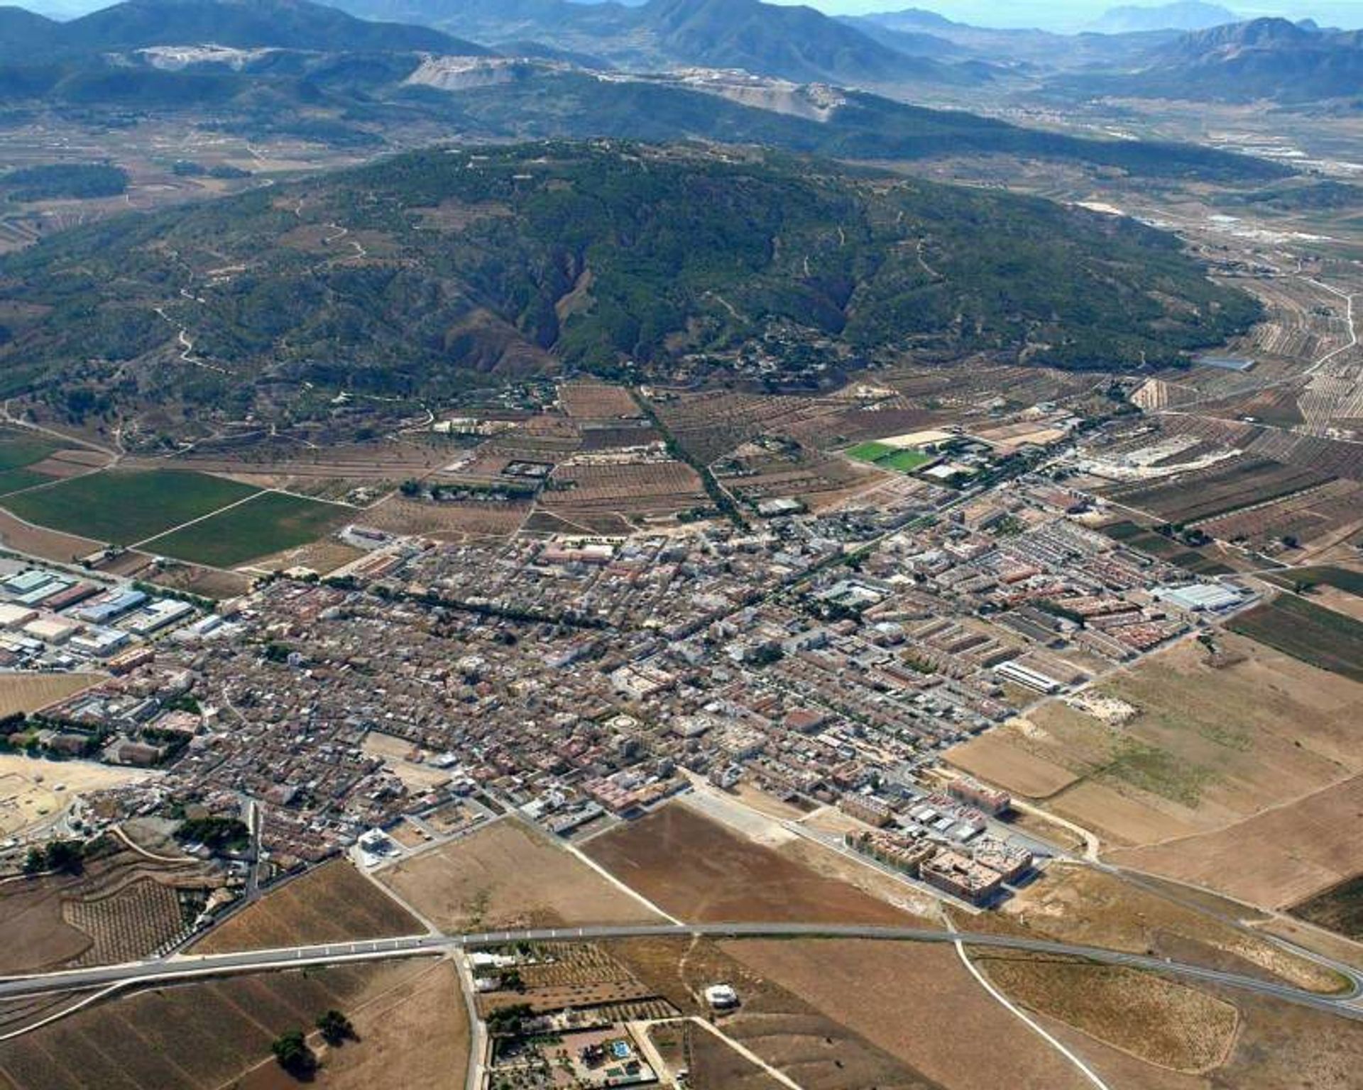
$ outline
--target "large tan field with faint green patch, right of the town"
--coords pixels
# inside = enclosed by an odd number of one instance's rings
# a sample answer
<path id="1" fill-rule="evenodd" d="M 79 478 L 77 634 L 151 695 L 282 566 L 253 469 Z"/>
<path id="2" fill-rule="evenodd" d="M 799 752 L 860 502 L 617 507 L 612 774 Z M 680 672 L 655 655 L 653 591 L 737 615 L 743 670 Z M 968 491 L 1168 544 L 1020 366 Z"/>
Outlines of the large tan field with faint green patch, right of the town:
<path id="1" fill-rule="evenodd" d="M 1086 698 L 1040 704 L 947 760 L 1043 801 L 1109 850 L 1167 842 L 1174 854 L 1180 838 L 1261 811 L 1272 823 L 1287 813 L 1276 807 L 1363 771 L 1363 687 L 1231 634 L 1214 654 L 1175 644 Z M 1313 839 L 1311 850 L 1345 849 L 1343 834 Z"/>

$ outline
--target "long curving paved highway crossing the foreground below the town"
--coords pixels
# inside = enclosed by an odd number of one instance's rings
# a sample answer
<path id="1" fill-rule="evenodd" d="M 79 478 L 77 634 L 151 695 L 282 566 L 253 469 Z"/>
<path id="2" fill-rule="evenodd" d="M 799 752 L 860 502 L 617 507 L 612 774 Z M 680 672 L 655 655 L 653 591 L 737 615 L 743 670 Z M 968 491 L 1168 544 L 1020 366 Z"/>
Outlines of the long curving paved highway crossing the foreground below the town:
<path id="1" fill-rule="evenodd" d="M 202 976 L 222 976 L 228 973 L 249 973 L 270 969 L 288 969 L 300 965 L 326 965 L 348 961 L 382 961 L 386 958 L 420 956 L 443 954 L 468 947 L 502 946 L 518 941 L 592 941 L 601 939 L 638 937 L 846 937 L 880 939 L 913 943 L 955 943 L 970 947 L 995 947 L 1000 950 L 1022 950 L 1035 954 L 1085 958 L 1104 965 L 1122 965 L 1131 969 L 1153 970 L 1204 984 L 1220 984 L 1258 995 L 1314 1007 L 1319 1011 L 1363 1021 L 1363 1007 L 1352 1004 L 1359 996 L 1355 984 L 1348 992 L 1326 996 L 1306 992 L 1287 984 L 1246 977 L 1238 973 L 1223 973 L 1199 965 L 1165 961 L 1144 954 L 1126 954 L 1101 947 L 1077 946 L 1073 943 L 1052 943 L 1043 939 L 1026 939 L 1013 935 L 983 935 L 977 932 L 957 932 L 927 928 L 885 928 L 849 924 L 641 924 L 634 926 L 583 926 L 583 928 L 530 928 L 523 931 L 492 931 L 470 935 L 414 935 L 403 939 L 379 939 L 360 943 L 333 943 L 330 946 L 288 947 L 284 950 L 259 950 L 245 954 L 176 955 L 172 958 L 108 965 L 94 969 L 71 969 L 61 973 L 45 973 L 31 977 L 0 978 L 0 1000 L 19 996 L 41 995 L 44 992 L 67 991 L 72 988 L 98 988 L 110 984 L 153 984 L 174 980 L 192 980 Z"/>

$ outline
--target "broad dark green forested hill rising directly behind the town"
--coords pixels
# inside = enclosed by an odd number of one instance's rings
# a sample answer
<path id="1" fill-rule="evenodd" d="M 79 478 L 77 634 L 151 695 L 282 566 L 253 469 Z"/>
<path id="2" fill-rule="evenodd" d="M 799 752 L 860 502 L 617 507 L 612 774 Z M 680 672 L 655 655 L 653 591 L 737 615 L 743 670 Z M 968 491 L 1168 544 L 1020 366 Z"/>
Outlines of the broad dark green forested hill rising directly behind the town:
<path id="1" fill-rule="evenodd" d="M 803 377 L 910 350 L 1135 368 L 1255 316 L 1133 221 L 617 143 L 435 149 L 121 217 L 0 262 L 0 292 L 29 316 L 0 346 L 4 392 L 65 388 L 83 360 L 113 399 L 239 409 L 266 387 L 439 394 L 626 361 L 676 376 L 758 350 Z"/>

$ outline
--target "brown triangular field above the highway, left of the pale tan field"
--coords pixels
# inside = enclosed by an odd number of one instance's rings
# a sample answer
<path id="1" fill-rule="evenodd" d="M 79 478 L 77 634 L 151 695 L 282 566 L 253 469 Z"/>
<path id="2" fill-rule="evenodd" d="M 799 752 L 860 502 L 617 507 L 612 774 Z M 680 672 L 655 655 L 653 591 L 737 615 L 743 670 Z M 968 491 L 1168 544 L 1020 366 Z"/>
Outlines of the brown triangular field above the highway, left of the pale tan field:
<path id="1" fill-rule="evenodd" d="M 420 921 L 345 860 L 324 862 L 229 917 L 196 954 L 420 935 Z"/>

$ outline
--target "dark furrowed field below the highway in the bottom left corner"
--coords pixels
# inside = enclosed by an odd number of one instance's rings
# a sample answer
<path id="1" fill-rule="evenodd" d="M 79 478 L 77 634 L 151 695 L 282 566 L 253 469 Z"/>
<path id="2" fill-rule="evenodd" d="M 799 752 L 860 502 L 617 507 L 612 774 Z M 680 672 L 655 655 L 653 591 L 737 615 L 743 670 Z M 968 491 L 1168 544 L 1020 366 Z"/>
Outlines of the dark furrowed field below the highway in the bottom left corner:
<path id="1" fill-rule="evenodd" d="M 136 992 L 0 1042 L 0 1078 L 12 1090 L 90 1090 L 95 1086 L 219 1090 L 258 1070 L 259 1078 L 267 1079 L 256 1083 L 262 1090 L 292 1085 L 279 1082 L 281 1072 L 269 1059 L 270 1042 L 278 1034 L 311 1027 L 331 1008 L 345 1011 L 357 1027 L 375 1029 L 371 1006 L 382 1012 L 386 1003 L 391 1004 L 394 996 L 401 995 L 395 989 L 410 986 L 429 970 L 431 965 L 421 961 L 368 963 L 228 977 Z M 435 1025 L 444 1022 L 458 1034 L 461 1018 L 462 1004 L 453 1003 L 446 1018 Z M 379 1041 L 384 1040 L 384 1053 L 393 1060 L 397 1042 L 380 1034 Z M 348 1042 L 331 1053 L 338 1074 L 364 1059 L 367 1041 Z M 412 1049 L 410 1041 L 406 1044 L 408 1052 L 425 1050 Z M 432 1052 L 454 1059 L 453 1045 L 450 1049 L 433 1045 Z M 416 1063 L 421 1063 L 420 1057 L 405 1060 L 405 1064 Z M 256 1076 L 254 1071 L 252 1076 Z M 319 1072 L 319 1085 L 326 1085 L 323 1078 Z M 375 1083 L 352 1078 L 335 1085 Z"/>

